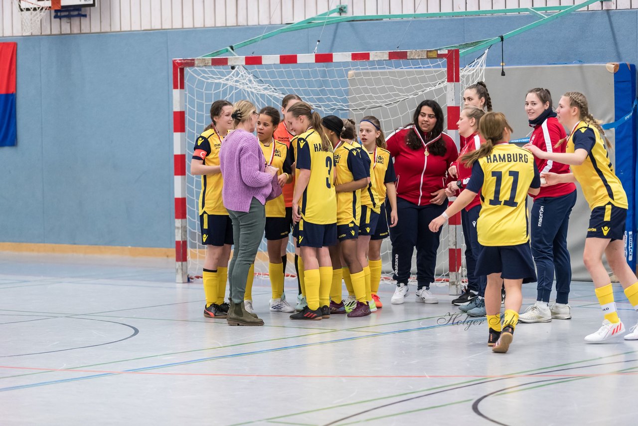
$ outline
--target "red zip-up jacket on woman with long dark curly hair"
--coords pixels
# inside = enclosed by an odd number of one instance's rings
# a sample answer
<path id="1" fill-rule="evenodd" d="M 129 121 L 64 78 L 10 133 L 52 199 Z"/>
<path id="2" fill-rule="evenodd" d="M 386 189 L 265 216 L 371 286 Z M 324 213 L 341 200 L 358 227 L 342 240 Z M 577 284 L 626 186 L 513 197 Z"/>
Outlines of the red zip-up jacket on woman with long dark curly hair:
<path id="1" fill-rule="evenodd" d="M 441 133 L 445 155 L 425 155 L 424 148 L 412 149 L 405 143 L 408 132 L 414 131 L 413 126 L 397 130 L 387 139 L 387 149 L 394 158 L 397 197 L 417 206 L 426 206 L 433 198 L 431 193 L 445 188 L 452 181 L 447 176 L 447 169 L 459 156 L 459 151 L 452 138 L 447 133 Z"/>

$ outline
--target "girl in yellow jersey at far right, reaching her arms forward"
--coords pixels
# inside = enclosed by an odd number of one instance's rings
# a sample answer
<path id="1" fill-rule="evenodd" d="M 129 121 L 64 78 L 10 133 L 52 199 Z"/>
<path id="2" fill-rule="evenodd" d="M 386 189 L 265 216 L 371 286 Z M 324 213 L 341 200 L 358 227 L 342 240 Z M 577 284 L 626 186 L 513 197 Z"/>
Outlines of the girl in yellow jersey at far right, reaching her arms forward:
<path id="1" fill-rule="evenodd" d="M 625 333 L 625 326 L 616 312 L 609 275 L 602 263 L 603 253 L 625 289 L 629 302 L 638 311 L 638 278 L 625 260 L 623 242 L 627 195 L 609 161 L 605 133 L 598 121 L 591 116 L 585 96 L 578 92 L 565 93 L 560 98 L 556 114 L 558 121 L 571 130 L 565 153 L 547 153 L 531 144 L 524 148 L 530 149 L 538 158 L 571 165 L 572 172 L 568 174 L 541 174 L 541 178 L 545 179 L 543 185 L 578 181 L 590 205 L 590 227 L 587 230 L 582 260 L 596 287 L 604 320 L 600 329 L 587 335 L 585 341 L 598 343 Z M 558 142 L 563 143 L 565 139 Z M 630 331 L 631 333 L 625 335 L 625 340 L 638 340 L 638 324 Z"/>

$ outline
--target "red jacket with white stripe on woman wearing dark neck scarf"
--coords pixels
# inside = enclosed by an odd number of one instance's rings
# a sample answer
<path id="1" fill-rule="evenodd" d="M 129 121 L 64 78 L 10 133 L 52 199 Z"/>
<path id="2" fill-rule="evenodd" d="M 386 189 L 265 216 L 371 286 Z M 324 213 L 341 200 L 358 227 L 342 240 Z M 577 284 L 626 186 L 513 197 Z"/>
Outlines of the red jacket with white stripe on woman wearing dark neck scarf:
<path id="1" fill-rule="evenodd" d="M 567 144 L 562 144 L 558 148 L 554 148 L 554 145 L 561 139 L 567 137 L 565 128 L 558 122 L 556 117 L 549 117 L 541 125 L 534 128 L 531 133 L 530 144 L 538 146 L 538 148 L 548 153 L 564 153 Z M 552 160 L 542 160 L 541 158 L 535 158 L 536 167 L 539 172 L 553 172 L 558 174 L 569 173 L 569 165 L 554 162 Z M 538 197 L 561 197 L 562 195 L 571 194 L 576 190 L 574 183 L 559 183 L 558 185 L 545 186 L 540 188 L 538 195 L 533 196 L 533 199 Z"/>

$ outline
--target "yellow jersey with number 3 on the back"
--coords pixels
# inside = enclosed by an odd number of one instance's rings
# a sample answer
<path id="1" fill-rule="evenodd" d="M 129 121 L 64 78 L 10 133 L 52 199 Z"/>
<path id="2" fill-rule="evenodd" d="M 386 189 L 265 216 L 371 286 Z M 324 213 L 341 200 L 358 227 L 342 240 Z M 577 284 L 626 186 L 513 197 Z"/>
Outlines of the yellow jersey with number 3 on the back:
<path id="1" fill-rule="evenodd" d="M 334 192 L 332 151 L 323 151 L 319 133 L 310 129 L 296 139 L 297 169 L 310 171 L 308 186 L 299 208 L 305 222 L 329 225 L 337 222 L 337 197 Z"/>

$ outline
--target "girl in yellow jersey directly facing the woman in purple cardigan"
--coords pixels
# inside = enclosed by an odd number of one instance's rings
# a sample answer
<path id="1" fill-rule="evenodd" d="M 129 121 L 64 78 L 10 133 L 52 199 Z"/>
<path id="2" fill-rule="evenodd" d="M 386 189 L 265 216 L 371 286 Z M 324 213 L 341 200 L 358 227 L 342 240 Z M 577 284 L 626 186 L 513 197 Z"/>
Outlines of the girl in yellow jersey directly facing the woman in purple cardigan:
<path id="1" fill-rule="evenodd" d="M 279 125 L 279 111 L 273 107 L 264 107 L 259 112 L 257 119 L 257 139 L 262 148 L 263 156 L 267 165 L 272 165 L 279 169 L 279 185 L 282 187 L 292 181 L 290 167 L 285 171 L 284 161 L 288 155 L 288 146 L 274 140 L 273 133 Z M 286 206 L 284 195 L 281 194 L 276 199 L 266 202 L 266 225 L 265 234 L 268 249 L 268 275 L 271 279 L 272 299 L 270 302 L 272 312 L 295 312 L 283 295 L 284 264 L 281 256 L 283 242 L 288 241 L 290 225 L 286 219 Z M 252 266 L 254 268 L 254 265 Z M 248 283 L 246 284 L 246 294 L 244 295 L 244 305 L 248 312 L 253 311 L 252 306 L 252 284 L 253 271 L 249 271 Z M 249 309 L 250 305 L 250 309 Z"/>

